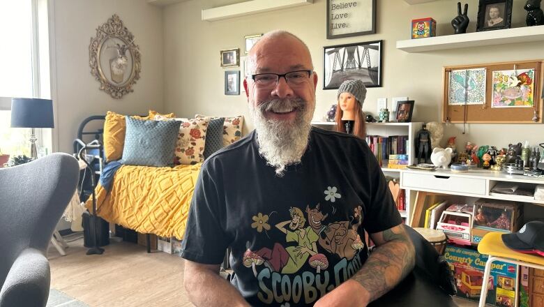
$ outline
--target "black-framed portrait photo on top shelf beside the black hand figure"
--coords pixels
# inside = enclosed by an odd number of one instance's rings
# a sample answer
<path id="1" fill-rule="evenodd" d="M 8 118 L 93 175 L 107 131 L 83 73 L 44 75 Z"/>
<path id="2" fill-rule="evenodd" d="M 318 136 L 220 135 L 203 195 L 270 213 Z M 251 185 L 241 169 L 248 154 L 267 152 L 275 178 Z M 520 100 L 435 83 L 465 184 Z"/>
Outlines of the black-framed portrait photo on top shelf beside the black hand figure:
<path id="1" fill-rule="evenodd" d="M 480 0 L 476 31 L 510 29 L 512 0 Z"/>

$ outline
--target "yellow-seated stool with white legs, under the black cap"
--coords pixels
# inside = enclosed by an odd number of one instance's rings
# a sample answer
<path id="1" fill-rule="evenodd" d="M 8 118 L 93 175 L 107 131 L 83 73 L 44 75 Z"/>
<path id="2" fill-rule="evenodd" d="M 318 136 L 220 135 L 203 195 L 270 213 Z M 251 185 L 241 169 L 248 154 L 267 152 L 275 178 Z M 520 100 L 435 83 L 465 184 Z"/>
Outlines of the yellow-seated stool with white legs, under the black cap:
<path id="1" fill-rule="evenodd" d="M 544 257 L 517 253 L 506 247 L 501 239 L 501 232 L 490 232 L 483 236 L 482 241 L 478 244 L 478 253 L 489 255 L 488 262 L 485 263 L 485 271 L 483 272 L 482 292 L 480 295 L 479 307 L 485 306 L 485 297 L 488 296 L 488 280 L 491 274 L 491 264 L 495 261 L 508 262 L 516 264 L 517 274 L 520 272 L 520 265 L 532 267 L 535 269 L 544 269 Z M 518 306 L 517 292 L 520 291 L 520 278 L 515 281 L 515 307 Z"/>

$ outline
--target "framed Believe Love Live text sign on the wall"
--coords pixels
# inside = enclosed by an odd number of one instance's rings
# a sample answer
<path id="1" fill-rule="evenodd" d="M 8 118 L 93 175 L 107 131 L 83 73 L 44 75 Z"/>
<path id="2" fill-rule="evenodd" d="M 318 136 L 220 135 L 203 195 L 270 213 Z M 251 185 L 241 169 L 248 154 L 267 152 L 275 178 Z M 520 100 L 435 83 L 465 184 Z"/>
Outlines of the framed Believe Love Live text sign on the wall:
<path id="1" fill-rule="evenodd" d="M 327 39 L 376 33 L 376 0 L 327 0 Z"/>

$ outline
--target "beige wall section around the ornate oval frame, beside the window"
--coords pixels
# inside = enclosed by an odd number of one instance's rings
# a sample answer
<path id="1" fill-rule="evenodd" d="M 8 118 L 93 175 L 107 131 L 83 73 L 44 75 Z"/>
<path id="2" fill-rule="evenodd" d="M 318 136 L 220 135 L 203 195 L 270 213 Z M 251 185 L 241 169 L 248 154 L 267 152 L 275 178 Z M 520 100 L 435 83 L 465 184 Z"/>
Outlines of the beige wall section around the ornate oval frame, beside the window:
<path id="1" fill-rule="evenodd" d="M 145 0 L 54 0 L 54 75 L 58 151 L 71 153 L 81 121 L 112 110 L 147 114 L 163 110 L 162 10 Z M 142 54 L 142 72 L 133 93 L 114 99 L 101 91 L 91 75 L 89 43 L 96 28 L 113 14 L 135 35 Z"/>

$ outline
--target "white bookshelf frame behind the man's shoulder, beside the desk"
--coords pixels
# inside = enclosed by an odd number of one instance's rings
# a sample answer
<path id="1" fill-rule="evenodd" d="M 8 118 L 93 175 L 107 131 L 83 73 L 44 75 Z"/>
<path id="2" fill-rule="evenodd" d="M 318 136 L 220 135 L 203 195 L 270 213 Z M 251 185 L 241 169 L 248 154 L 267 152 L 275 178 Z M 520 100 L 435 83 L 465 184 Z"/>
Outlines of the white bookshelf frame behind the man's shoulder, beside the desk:
<path id="1" fill-rule="evenodd" d="M 313 121 L 313 126 L 327 129 L 327 130 L 335 130 L 335 123 L 330 121 Z M 366 123 L 366 133 L 367 135 L 380 135 L 384 137 L 389 137 L 392 135 L 406 135 L 408 137 L 408 163 L 414 164 L 414 156 L 415 156 L 415 149 L 414 149 L 414 137 L 416 136 L 416 133 L 418 130 L 420 130 L 423 127 L 422 122 L 414 122 L 414 123 Z M 381 171 L 384 172 L 386 177 L 395 178 L 398 182 L 401 180 L 401 174 L 403 170 L 400 169 L 392 169 L 388 167 L 382 167 Z M 400 186 L 402 188 L 402 182 L 400 182 Z M 400 211 L 400 216 L 402 218 L 406 218 L 406 220 L 410 219 L 410 212 L 411 212 L 411 201 L 414 197 L 411 195 L 411 190 L 404 188 L 405 190 L 405 205 L 406 210 Z"/>

